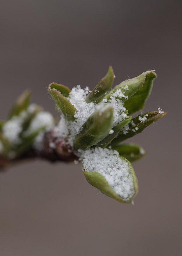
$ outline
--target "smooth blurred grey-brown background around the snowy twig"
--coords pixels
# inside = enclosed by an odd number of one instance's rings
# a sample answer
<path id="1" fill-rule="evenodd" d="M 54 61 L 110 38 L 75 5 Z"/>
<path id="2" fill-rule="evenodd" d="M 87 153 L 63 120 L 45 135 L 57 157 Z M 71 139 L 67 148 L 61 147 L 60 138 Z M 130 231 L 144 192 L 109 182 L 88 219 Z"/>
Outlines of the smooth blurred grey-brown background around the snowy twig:
<path id="1" fill-rule="evenodd" d="M 91 89 L 155 69 L 144 111 L 168 112 L 130 141 L 148 155 L 133 164 L 135 205 L 90 186 L 81 166 L 36 160 L 0 174 L 1 256 L 181 255 L 181 1 L 37 0 L 0 6 L 0 116 L 26 88 L 52 113 L 46 87 Z"/>

